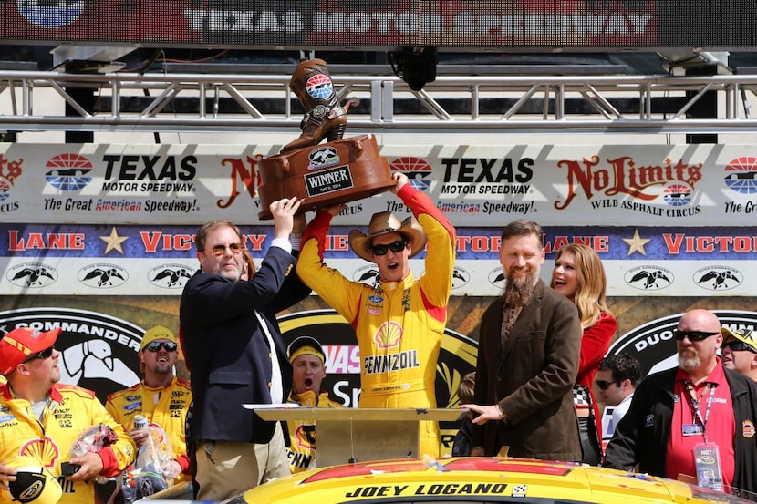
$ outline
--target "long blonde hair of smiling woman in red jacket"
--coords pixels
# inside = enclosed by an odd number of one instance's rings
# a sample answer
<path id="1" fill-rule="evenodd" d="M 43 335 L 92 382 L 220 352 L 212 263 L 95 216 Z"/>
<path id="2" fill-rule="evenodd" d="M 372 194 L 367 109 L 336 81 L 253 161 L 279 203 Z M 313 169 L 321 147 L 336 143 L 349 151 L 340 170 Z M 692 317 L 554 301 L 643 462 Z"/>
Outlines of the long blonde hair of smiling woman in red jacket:
<path id="1" fill-rule="evenodd" d="M 570 252 L 576 258 L 574 266 L 578 288 L 574 303 L 578 308 L 578 316 L 581 318 L 581 328 L 586 329 L 596 324 L 602 312 L 610 314 L 605 298 L 607 290 L 605 267 L 594 249 L 582 243 L 565 245 L 555 254 L 555 262 L 559 261 L 564 252 Z M 555 287 L 555 281 L 550 282 L 549 286 Z"/>

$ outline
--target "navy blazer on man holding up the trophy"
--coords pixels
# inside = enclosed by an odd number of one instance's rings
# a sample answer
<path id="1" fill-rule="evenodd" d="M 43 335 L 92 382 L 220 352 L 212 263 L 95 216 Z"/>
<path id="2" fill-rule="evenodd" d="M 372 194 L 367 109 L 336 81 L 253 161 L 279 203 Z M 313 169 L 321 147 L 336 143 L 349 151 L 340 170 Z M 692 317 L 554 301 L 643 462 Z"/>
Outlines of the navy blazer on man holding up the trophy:
<path id="1" fill-rule="evenodd" d="M 179 319 L 191 369 L 193 439 L 267 443 L 273 437 L 275 422 L 264 422 L 242 405 L 271 403 L 270 350 L 254 311 L 274 339 L 284 399 L 289 396 L 292 365 L 275 314 L 310 293 L 297 278 L 295 262 L 284 249 L 271 247 L 249 281 L 201 271 L 184 286 Z"/>

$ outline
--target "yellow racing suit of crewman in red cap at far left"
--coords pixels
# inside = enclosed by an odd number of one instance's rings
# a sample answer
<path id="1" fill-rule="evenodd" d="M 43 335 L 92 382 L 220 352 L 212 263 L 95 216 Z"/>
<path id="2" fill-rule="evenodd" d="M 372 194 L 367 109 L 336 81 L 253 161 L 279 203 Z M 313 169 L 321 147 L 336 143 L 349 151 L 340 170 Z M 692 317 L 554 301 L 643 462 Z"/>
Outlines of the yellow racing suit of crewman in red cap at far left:
<path id="1" fill-rule="evenodd" d="M 115 444 L 97 452 L 103 464 L 100 475 L 106 478 L 118 476 L 131 463 L 136 447 L 92 391 L 55 384 L 49 398 L 40 423 L 29 401 L 14 396 L 8 385 L 0 389 L 0 461 L 17 455 L 36 458 L 60 483 L 60 504 L 92 504 L 92 482 L 69 481 L 60 471 L 60 463 L 69 459 L 71 446 L 82 431 L 103 424 L 118 435 Z"/>

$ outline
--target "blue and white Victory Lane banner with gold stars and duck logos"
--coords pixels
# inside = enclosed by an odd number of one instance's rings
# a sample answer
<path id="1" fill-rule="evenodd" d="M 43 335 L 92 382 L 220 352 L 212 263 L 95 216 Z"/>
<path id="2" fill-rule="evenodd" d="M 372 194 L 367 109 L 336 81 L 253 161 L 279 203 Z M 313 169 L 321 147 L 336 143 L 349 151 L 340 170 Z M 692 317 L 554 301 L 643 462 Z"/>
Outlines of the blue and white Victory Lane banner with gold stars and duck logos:
<path id="1" fill-rule="evenodd" d="M 401 214 L 404 217 L 404 214 Z M 368 220 L 368 216 L 366 216 Z M 511 218 L 516 218 L 511 216 Z M 338 218 L 335 219 L 338 221 Z M 196 226 L 0 223 L 0 289 L 8 295 L 179 296 L 199 268 Z M 244 246 L 259 264 L 272 226 L 240 225 Z M 375 264 L 349 249 L 355 227 L 332 226 L 325 258 L 350 280 L 373 283 Z M 363 228 L 360 228 L 363 229 Z M 555 252 L 568 243 L 596 250 L 611 296 L 749 296 L 757 271 L 757 227 L 577 227 L 544 224 L 549 282 Z M 502 228 L 458 227 L 453 296 L 503 292 Z M 425 252 L 410 260 L 424 273 Z"/>

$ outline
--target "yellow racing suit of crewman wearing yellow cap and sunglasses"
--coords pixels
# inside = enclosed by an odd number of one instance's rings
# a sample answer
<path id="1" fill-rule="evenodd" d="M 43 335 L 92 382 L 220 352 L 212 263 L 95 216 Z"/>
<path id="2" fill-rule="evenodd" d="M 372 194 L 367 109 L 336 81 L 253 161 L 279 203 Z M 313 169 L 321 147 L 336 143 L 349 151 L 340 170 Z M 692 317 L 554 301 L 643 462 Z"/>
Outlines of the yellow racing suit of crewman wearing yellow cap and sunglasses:
<path id="1" fill-rule="evenodd" d="M 130 432 L 134 428 L 134 417 L 144 415 L 147 421 L 161 426 L 171 440 L 173 458 L 179 462 L 181 473 L 174 483 L 189 478 L 189 457 L 187 456 L 184 422 L 192 403 L 192 389 L 187 380 L 173 376 L 166 387 L 152 388 L 140 382 L 135 386 L 119 390 L 108 396 L 105 407 L 117 422 Z"/>

